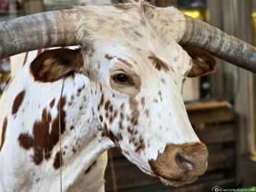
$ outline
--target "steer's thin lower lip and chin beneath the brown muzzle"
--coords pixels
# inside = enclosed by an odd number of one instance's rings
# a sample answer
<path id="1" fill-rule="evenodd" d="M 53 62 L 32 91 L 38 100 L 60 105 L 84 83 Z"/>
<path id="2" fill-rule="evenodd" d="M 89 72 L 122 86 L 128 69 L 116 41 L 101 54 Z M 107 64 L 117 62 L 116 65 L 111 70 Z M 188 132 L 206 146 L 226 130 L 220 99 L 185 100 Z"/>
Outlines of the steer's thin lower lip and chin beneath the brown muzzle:
<path id="1" fill-rule="evenodd" d="M 173 186 L 173 187 L 180 187 L 180 186 L 185 186 L 189 183 L 194 182 L 198 177 L 193 177 L 193 178 L 162 178 L 159 177 L 161 182 L 165 185 L 165 186 Z"/>

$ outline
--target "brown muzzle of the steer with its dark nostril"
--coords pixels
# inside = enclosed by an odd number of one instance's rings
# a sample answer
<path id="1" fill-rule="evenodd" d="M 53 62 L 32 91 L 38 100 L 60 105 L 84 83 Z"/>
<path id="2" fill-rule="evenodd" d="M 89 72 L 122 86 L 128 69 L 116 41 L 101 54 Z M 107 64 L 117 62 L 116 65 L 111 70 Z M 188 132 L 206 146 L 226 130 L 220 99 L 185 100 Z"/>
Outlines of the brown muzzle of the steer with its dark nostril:
<path id="1" fill-rule="evenodd" d="M 156 160 L 149 160 L 149 164 L 152 172 L 160 178 L 186 184 L 205 173 L 207 158 L 208 150 L 201 142 L 168 144 Z"/>

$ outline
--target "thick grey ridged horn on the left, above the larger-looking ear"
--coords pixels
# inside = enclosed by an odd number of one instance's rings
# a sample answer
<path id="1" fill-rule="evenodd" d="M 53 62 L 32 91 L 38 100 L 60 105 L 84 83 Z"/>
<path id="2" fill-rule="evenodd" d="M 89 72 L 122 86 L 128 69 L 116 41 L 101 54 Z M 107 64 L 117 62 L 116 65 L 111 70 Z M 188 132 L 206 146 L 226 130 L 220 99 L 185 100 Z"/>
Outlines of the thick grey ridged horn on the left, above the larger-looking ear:
<path id="1" fill-rule="evenodd" d="M 78 45 L 70 10 L 43 12 L 0 23 L 0 58 L 47 47 Z"/>

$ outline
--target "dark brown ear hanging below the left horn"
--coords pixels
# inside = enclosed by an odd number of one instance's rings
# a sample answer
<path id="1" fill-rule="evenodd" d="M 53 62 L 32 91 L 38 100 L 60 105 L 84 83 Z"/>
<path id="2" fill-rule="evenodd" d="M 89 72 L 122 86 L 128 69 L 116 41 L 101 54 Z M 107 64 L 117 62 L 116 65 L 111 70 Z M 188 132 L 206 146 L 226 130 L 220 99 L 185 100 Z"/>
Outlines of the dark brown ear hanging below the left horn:
<path id="1" fill-rule="evenodd" d="M 83 56 L 79 49 L 47 50 L 32 61 L 30 73 L 35 81 L 47 83 L 79 73 L 82 66 Z"/>

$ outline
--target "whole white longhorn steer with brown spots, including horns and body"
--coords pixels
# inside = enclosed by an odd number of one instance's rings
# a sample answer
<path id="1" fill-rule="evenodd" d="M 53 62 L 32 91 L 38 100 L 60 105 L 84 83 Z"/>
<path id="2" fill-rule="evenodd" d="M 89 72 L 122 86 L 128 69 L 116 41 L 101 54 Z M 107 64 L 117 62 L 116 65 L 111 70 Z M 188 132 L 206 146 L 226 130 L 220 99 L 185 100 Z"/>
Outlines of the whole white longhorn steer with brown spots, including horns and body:
<path id="1" fill-rule="evenodd" d="M 0 24 L 0 58 L 68 45 L 81 49 L 27 61 L 1 98 L 1 191 L 58 191 L 60 157 L 63 191 L 104 191 L 105 151 L 114 146 L 166 185 L 191 183 L 204 174 L 208 152 L 188 120 L 182 86 L 216 68 L 199 48 L 255 71 L 255 47 L 144 1 Z"/>

